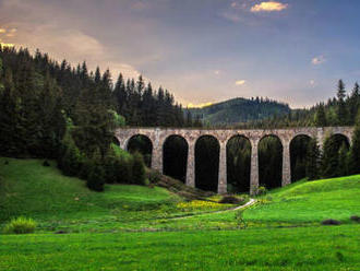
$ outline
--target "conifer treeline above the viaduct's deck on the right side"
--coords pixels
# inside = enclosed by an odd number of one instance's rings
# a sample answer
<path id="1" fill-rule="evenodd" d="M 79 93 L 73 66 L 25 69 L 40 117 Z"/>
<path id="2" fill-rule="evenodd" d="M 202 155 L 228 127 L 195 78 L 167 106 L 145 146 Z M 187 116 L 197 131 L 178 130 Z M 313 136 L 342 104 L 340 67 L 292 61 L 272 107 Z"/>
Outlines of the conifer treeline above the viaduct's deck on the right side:
<path id="1" fill-rule="evenodd" d="M 239 128 L 285 128 L 353 126 L 360 108 L 359 84 L 346 91 L 343 80 L 338 81 L 336 96 L 319 103 L 310 109 L 295 109 L 288 114 L 274 115 L 268 119 L 241 123 Z"/>

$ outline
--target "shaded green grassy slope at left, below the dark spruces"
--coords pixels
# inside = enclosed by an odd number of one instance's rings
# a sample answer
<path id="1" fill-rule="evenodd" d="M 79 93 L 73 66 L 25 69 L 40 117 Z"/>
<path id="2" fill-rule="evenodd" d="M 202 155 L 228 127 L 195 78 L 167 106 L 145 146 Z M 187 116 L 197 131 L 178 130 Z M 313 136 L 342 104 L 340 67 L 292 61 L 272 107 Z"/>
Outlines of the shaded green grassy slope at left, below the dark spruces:
<path id="1" fill-rule="evenodd" d="M 177 198 L 163 188 L 106 186 L 106 192 L 89 191 L 85 182 L 65 177 L 41 161 L 0 158 L 0 222 L 10 216 L 35 219 L 93 217 L 119 209 L 152 209 Z"/>

